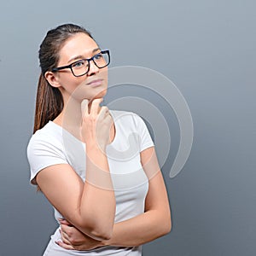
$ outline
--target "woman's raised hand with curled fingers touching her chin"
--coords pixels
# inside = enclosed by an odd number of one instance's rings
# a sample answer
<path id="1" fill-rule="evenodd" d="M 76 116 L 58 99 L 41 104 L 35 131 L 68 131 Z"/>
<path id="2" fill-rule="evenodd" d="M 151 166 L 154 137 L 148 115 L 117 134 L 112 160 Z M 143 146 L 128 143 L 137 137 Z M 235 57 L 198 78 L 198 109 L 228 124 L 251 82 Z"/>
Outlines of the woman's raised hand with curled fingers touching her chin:
<path id="1" fill-rule="evenodd" d="M 86 146 L 97 146 L 105 150 L 110 143 L 110 130 L 113 119 L 109 114 L 108 107 L 100 106 L 102 98 L 89 101 L 84 99 L 81 103 L 82 125 L 81 137 Z"/>

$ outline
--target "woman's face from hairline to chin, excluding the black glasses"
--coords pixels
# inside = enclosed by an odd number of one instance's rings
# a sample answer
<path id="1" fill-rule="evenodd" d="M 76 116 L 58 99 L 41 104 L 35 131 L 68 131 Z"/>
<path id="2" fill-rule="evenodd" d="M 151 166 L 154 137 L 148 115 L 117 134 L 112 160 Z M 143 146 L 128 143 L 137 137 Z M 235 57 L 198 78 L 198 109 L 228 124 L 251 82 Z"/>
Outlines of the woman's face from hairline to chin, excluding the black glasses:
<path id="1" fill-rule="evenodd" d="M 79 32 L 68 38 L 59 51 L 57 67 L 67 66 L 74 61 L 90 59 L 99 53 L 96 42 L 85 33 Z M 72 96 L 81 102 L 106 95 L 108 88 L 108 67 L 98 68 L 90 61 L 90 70 L 84 76 L 75 77 L 70 68 L 54 73 L 55 82 L 61 90 L 64 102 Z"/>

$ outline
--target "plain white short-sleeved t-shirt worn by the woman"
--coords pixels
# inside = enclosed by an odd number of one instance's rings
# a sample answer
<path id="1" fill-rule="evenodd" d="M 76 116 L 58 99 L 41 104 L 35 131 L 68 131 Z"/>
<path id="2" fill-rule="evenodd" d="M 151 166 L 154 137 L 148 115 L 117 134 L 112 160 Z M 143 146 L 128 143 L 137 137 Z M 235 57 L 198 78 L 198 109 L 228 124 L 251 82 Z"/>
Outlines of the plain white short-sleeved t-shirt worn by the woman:
<path id="1" fill-rule="evenodd" d="M 147 126 L 136 113 L 109 111 L 113 116 L 115 137 L 107 146 L 108 166 L 113 180 L 116 199 L 115 222 L 133 218 L 144 212 L 148 193 L 148 178 L 140 162 L 140 152 L 153 147 L 154 143 Z M 42 169 L 56 164 L 69 164 L 84 180 L 85 151 L 81 143 L 61 126 L 49 121 L 32 136 L 27 147 L 27 158 L 31 167 L 31 183 Z M 61 213 L 55 210 L 55 218 Z M 136 232 L 136 230 L 134 230 Z M 60 240 L 58 229 L 51 236 L 44 256 L 64 255 L 116 255 L 140 256 L 142 247 L 101 247 L 91 251 L 66 250 L 55 244 Z"/>

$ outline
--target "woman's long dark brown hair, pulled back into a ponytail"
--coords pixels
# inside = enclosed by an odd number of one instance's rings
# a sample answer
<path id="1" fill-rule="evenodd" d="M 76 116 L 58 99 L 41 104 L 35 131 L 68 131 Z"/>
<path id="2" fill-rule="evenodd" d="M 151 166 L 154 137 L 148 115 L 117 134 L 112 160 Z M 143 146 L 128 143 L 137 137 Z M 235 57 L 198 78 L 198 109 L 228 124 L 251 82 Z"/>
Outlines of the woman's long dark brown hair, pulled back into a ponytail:
<path id="1" fill-rule="evenodd" d="M 59 51 L 68 38 L 83 32 L 92 38 L 84 27 L 74 24 L 64 24 L 47 32 L 39 49 L 41 74 L 38 80 L 38 92 L 33 132 L 46 125 L 49 120 L 55 119 L 62 111 L 63 98 L 58 88 L 51 86 L 44 74 L 56 67 L 59 61 Z"/>

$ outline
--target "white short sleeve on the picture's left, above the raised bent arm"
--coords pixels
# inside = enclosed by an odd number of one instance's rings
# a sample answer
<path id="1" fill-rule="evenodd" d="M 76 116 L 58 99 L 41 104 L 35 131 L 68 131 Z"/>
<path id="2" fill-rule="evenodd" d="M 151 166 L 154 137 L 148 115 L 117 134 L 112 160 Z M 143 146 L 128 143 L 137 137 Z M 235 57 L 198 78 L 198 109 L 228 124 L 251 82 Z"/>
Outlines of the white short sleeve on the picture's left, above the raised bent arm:
<path id="1" fill-rule="evenodd" d="M 67 164 L 67 157 L 64 151 L 61 150 L 60 143 L 46 137 L 38 138 L 33 136 L 28 143 L 26 154 L 31 171 L 30 182 L 34 185 L 37 184 L 35 177 L 44 168 Z"/>

